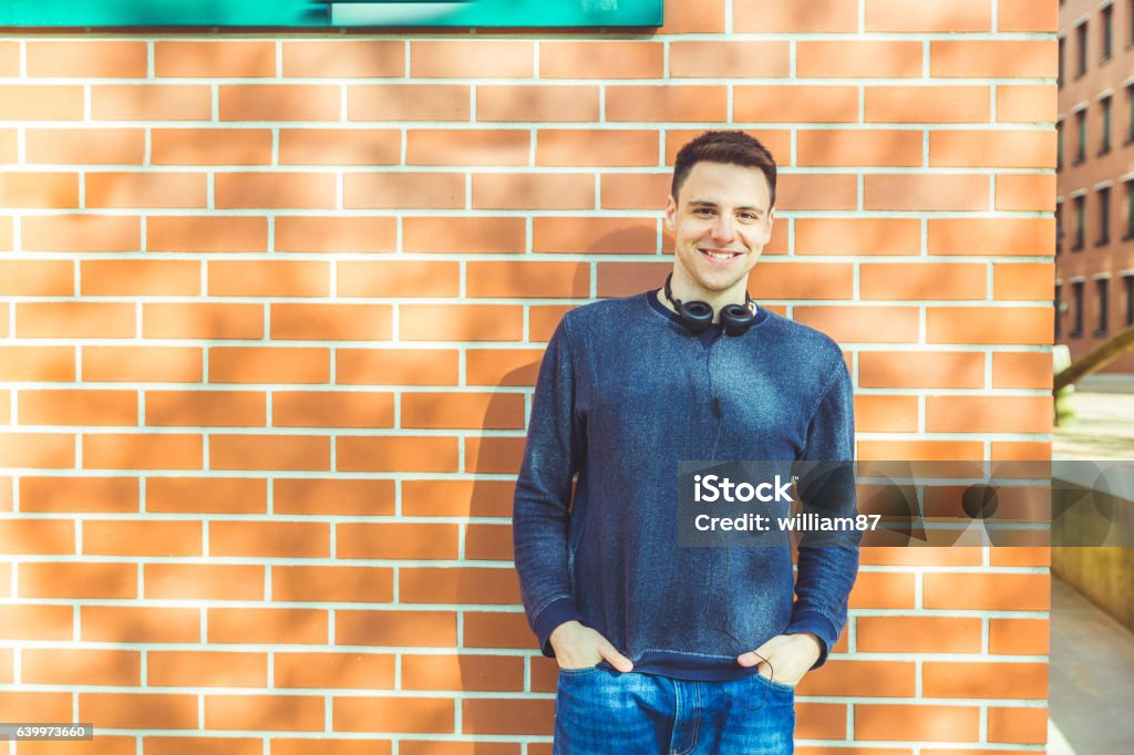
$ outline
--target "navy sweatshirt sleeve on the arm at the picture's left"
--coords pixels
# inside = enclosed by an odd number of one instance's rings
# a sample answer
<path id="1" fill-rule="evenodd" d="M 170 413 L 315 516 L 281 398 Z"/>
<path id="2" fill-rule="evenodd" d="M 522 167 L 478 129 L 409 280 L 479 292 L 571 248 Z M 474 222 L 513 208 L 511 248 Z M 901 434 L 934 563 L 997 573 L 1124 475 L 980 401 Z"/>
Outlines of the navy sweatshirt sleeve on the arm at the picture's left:
<path id="1" fill-rule="evenodd" d="M 532 399 L 527 444 L 513 501 L 513 546 L 527 622 L 548 658 L 559 625 L 581 620 L 568 572 L 572 478 L 582 467 L 584 425 L 575 412 L 567 317 L 548 343 Z"/>

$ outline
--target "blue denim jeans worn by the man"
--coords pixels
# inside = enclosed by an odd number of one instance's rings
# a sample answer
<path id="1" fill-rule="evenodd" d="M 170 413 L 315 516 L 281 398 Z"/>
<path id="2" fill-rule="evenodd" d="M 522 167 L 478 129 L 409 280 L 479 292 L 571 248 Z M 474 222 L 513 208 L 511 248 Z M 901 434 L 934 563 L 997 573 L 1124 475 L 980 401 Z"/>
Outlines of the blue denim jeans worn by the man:
<path id="1" fill-rule="evenodd" d="M 552 755 L 789 755 L 795 690 L 760 675 L 685 681 L 560 669 Z"/>

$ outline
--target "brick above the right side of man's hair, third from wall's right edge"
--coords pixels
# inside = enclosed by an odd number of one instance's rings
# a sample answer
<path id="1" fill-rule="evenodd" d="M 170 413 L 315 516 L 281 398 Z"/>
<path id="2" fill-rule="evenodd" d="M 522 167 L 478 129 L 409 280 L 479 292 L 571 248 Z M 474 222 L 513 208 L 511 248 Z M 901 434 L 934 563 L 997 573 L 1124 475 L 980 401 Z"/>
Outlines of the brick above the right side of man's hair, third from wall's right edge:
<path id="1" fill-rule="evenodd" d="M 733 118 L 745 122 L 855 122 L 854 86 L 737 86 Z M 871 120 L 868 116 L 868 120 Z"/>

